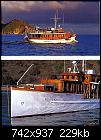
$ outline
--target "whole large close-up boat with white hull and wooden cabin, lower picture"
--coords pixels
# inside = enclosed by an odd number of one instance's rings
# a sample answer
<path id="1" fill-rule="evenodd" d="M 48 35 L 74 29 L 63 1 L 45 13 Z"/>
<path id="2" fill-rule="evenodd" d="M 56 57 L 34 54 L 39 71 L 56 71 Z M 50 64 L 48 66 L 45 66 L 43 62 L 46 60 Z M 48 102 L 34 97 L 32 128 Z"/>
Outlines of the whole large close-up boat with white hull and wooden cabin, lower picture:
<path id="1" fill-rule="evenodd" d="M 76 61 L 60 79 L 11 87 L 11 117 L 73 112 L 100 108 L 98 76 L 92 69 L 79 72 Z"/>

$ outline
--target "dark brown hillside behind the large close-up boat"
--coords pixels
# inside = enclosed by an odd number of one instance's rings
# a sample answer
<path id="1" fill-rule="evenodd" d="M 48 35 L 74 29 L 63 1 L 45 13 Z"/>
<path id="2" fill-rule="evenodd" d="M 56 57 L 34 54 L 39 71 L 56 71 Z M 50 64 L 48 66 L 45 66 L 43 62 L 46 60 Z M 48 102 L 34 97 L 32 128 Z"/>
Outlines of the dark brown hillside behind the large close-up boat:
<path id="1" fill-rule="evenodd" d="M 71 66 L 72 61 L 65 61 L 66 69 Z M 81 71 L 81 61 L 78 62 L 78 68 Z M 86 62 L 87 68 L 94 68 L 100 75 L 100 61 L 89 60 Z M 42 78 L 56 79 L 64 71 L 64 61 L 25 61 L 10 60 L 2 61 L 2 84 L 16 84 L 19 78 L 24 74 L 28 67 L 34 64 L 22 79 L 22 83 L 38 83 Z"/>

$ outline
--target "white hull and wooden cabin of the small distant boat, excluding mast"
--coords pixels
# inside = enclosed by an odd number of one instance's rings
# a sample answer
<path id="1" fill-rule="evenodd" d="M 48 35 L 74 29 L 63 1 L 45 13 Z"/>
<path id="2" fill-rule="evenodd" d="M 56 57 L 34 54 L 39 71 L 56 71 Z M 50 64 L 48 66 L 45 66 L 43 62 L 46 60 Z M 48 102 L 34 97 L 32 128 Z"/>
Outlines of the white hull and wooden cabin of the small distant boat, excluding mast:
<path id="1" fill-rule="evenodd" d="M 61 35 L 61 37 L 59 37 Z M 40 37 L 39 37 L 40 36 Z M 62 37 L 63 36 L 63 37 Z M 66 33 L 45 33 L 35 32 L 29 33 L 25 37 L 29 42 L 36 44 L 74 44 L 78 41 L 76 40 L 76 35 L 70 35 L 66 37 Z"/>

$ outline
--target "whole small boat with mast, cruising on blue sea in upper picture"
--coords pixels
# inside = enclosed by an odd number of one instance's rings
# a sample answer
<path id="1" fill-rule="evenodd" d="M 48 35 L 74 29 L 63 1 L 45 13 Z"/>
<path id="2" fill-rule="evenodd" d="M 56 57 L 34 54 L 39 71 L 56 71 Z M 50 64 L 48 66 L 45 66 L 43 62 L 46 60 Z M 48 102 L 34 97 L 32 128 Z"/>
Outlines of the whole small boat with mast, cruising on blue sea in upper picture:
<path id="1" fill-rule="evenodd" d="M 63 28 L 57 27 L 59 19 L 57 14 L 53 19 L 55 22 L 54 27 L 36 28 L 35 32 L 27 33 L 25 39 L 38 44 L 74 44 L 78 42 L 75 33 L 65 32 Z"/>

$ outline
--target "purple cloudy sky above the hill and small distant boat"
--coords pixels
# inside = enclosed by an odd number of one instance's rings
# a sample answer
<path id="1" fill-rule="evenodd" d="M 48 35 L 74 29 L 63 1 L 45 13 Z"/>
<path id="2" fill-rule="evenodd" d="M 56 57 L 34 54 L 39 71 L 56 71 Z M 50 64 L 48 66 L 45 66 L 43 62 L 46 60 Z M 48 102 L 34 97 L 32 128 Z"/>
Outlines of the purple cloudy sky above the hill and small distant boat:
<path id="1" fill-rule="evenodd" d="M 98 1 L 1 1 L 2 21 L 22 19 L 28 23 L 48 23 L 56 10 L 65 23 L 99 23 Z"/>

